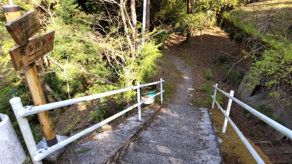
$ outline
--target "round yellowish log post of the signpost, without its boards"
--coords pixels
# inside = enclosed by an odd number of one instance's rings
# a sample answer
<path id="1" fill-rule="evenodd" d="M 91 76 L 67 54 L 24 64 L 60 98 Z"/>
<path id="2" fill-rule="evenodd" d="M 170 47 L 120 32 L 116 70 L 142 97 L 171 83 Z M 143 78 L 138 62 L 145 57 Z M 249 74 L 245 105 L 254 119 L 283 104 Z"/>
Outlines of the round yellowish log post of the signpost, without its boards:
<path id="1" fill-rule="evenodd" d="M 21 16 L 20 8 L 18 5 L 2 6 L 2 8 L 3 8 L 3 12 L 5 14 L 7 22 L 11 22 Z M 41 87 L 41 82 L 39 80 L 35 62 L 24 67 L 23 72 L 25 74 L 25 78 L 28 83 L 28 87 L 32 95 L 32 100 L 34 102 L 34 105 L 38 106 L 38 105 L 46 104 L 47 103 L 46 98 L 44 95 L 44 91 Z M 39 112 L 38 117 L 41 124 L 41 128 L 44 133 L 44 137 L 46 139 L 47 146 L 53 146 L 57 144 L 58 141 L 53 129 L 52 120 L 51 120 L 49 111 Z"/>

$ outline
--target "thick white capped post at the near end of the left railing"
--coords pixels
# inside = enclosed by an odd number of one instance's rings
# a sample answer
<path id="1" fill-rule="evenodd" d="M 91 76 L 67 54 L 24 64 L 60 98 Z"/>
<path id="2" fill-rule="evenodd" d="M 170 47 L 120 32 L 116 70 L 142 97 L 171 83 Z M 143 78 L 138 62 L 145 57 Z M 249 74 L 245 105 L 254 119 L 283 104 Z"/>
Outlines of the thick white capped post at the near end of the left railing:
<path id="1" fill-rule="evenodd" d="M 35 155 L 34 152 L 37 151 L 38 149 L 37 149 L 36 143 L 34 141 L 34 136 L 32 135 L 32 130 L 30 129 L 29 123 L 27 121 L 27 117 L 22 118 L 22 117 L 19 117 L 17 115 L 17 111 L 23 107 L 20 97 L 14 97 L 14 98 L 10 99 L 9 102 L 12 106 L 13 112 L 15 114 L 16 120 L 17 120 L 19 128 L 20 128 L 20 131 L 22 133 L 23 139 L 24 139 L 25 144 L 27 146 L 27 150 L 28 150 L 29 155 L 32 159 L 32 163 L 33 164 L 42 164 L 41 161 L 36 162 L 33 160 L 34 155 Z"/>

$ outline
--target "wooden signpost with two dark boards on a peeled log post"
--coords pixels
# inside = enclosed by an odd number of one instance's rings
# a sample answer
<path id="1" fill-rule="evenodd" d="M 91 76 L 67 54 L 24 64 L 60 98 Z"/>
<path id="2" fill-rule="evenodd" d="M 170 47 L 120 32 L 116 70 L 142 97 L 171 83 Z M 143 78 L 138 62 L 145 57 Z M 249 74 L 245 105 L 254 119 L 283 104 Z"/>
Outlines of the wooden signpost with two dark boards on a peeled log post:
<path id="1" fill-rule="evenodd" d="M 13 66 L 16 70 L 23 69 L 34 105 L 46 104 L 34 61 L 53 50 L 55 32 L 47 32 L 28 41 L 40 29 L 37 11 L 33 10 L 21 16 L 18 5 L 2 6 L 2 9 L 8 22 L 5 27 L 17 44 L 9 50 Z M 39 112 L 37 115 L 47 146 L 57 144 L 49 111 Z"/>

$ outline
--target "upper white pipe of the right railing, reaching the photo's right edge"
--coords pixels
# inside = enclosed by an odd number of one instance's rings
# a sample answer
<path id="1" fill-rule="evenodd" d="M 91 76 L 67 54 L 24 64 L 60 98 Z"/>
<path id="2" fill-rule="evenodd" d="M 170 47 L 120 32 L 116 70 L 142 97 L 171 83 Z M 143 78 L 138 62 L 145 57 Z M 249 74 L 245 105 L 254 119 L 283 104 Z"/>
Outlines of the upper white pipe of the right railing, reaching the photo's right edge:
<path id="1" fill-rule="evenodd" d="M 277 123 L 276 121 L 272 120 L 271 118 L 265 116 L 264 114 L 260 113 L 256 109 L 253 109 L 252 107 L 244 104 L 243 102 L 241 102 L 240 100 L 236 99 L 235 97 L 230 96 L 228 93 L 224 92 L 223 90 L 219 89 L 218 87 L 216 87 L 216 86 L 213 86 L 213 87 L 216 88 L 217 90 L 219 90 L 221 93 L 223 93 L 223 95 L 231 98 L 234 102 L 236 102 L 241 107 L 243 107 L 244 109 L 246 109 L 249 112 L 251 112 L 256 117 L 260 118 L 262 121 L 264 121 L 268 125 L 272 126 L 278 132 L 284 134 L 289 139 L 292 139 L 292 131 L 290 129 L 286 128 L 285 126 L 283 126 L 283 125 L 281 125 L 279 123 Z"/>

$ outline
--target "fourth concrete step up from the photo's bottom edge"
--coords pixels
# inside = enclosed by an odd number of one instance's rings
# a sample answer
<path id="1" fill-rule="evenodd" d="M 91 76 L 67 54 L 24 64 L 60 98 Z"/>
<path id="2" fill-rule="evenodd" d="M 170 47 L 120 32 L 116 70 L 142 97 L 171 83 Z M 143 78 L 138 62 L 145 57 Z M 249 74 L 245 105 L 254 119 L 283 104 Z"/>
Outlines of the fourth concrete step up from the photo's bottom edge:
<path id="1" fill-rule="evenodd" d="M 209 135 L 203 135 L 201 132 L 198 132 L 196 135 L 189 135 L 185 133 L 176 134 L 176 133 L 165 133 L 161 131 L 156 130 L 144 130 L 140 136 L 142 135 L 151 135 L 152 137 L 159 137 L 159 138 L 165 138 L 165 139 L 173 139 L 176 141 L 196 141 L 196 140 L 206 140 L 206 141 L 213 141 L 215 140 L 215 135 L 209 134 Z"/>

